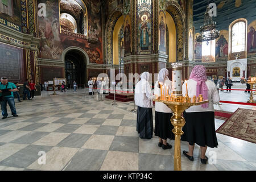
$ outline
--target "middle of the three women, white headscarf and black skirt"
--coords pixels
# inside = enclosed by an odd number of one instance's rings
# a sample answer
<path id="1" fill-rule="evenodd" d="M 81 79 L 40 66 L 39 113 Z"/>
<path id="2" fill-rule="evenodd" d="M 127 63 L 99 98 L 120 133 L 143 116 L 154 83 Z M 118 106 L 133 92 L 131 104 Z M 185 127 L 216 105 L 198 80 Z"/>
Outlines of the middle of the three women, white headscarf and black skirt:
<path id="1" fill-rule="evenodd" d="M 155 82 L 154 94 L 160 96 L 160 84 L 163 85 L 163 90 L 171 95 L 172 92 L 172 81 L 168 78 L 169 71 L 163 68 L 158 73 L 158 81 Z M 163 93 L 166 96 L 166 92 Z M 172 148 L 171 144 L 167 143 L 167 138 L 175 139 L 172 129 L 174 126 L 171 124 L 172 110 L 162 102 L 155 102 L 155 136 L 159 137 L 158 146 L 162 147 L 163 150 Z"/>

